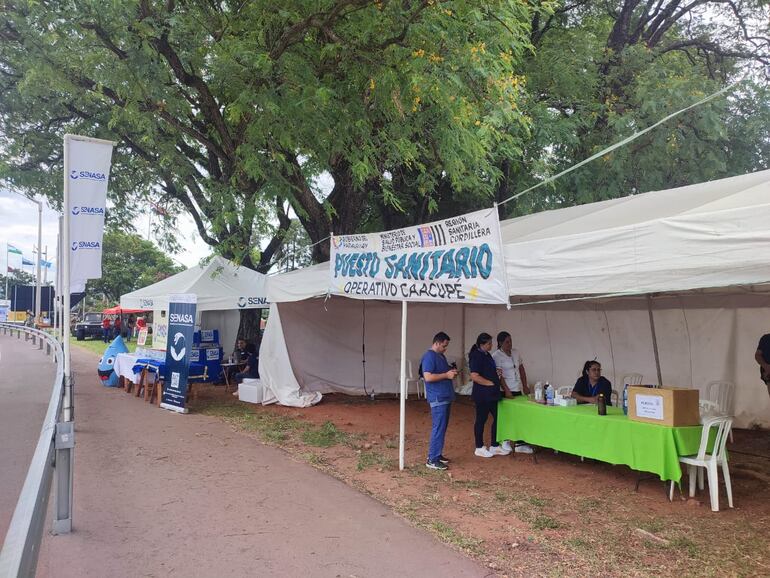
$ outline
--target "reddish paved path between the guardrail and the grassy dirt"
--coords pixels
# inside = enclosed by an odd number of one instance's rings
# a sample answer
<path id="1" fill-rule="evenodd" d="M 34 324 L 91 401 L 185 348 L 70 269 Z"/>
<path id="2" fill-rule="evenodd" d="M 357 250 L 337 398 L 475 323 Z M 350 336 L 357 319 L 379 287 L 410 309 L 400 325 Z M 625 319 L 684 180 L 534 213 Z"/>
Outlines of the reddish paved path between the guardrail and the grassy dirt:
<path id="1" fill-rule="evenodd" d="M 75 531 L 38 576 L 484 576 L 385 506 L 197 414 L 97 383 L 76 347 Z"/>

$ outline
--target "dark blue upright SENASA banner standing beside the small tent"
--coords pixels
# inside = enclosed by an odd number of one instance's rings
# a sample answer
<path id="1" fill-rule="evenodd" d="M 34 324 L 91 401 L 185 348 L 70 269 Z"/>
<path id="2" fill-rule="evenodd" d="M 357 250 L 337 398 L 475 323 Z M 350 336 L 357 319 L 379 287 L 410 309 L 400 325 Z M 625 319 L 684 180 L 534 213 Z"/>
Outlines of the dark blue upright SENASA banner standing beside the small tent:
<path id="1" fill-rule="evenodd" d="M 169 295 L 168 341 L 166 343 L 166 382 L 160 406 L 187 413 L 187 380 L 195 331 L 197 298 L 192 294 Z"/>

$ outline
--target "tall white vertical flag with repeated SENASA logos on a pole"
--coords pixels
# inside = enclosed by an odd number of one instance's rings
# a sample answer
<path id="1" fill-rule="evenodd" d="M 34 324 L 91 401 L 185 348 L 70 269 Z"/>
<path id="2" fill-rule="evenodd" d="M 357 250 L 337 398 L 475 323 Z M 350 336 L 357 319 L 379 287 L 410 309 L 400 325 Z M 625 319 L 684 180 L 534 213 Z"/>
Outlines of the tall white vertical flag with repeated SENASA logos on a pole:
<path id="1" fill-rule="evenodd" d="M 85 287 L 87 279 L 102 276 L 102 236 L 110 178 L 112 144 L 67 135 L 70 287 Z"/>

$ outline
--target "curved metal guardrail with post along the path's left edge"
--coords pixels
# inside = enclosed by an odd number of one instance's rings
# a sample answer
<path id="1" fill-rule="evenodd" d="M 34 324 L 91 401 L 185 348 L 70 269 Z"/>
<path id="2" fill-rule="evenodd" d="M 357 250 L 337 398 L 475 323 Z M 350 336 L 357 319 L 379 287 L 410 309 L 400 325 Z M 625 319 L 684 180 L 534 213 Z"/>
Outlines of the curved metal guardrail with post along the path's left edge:
<path id="1" fill-rule="evenodd" d="M 53 354 L 56 377 L 51 400 L 43 421 L 35 454 L 27 471 L 19 501 L 0 551 L 0 578 L 32 577 L 35 575 L 43 526 L 48 512 L 51 481 L 56 477 L 53 513 L 53 533 L 72 530 L 72 458 L 75 447 L 74 422 L 61 421 L 64 406 L 64 352 L 61 344 L 49 334 L 14 323 L 0 323 L 3 335 L 16 333 L 17 339 L 32 340 L 45 345 L 46 354 Z"/>

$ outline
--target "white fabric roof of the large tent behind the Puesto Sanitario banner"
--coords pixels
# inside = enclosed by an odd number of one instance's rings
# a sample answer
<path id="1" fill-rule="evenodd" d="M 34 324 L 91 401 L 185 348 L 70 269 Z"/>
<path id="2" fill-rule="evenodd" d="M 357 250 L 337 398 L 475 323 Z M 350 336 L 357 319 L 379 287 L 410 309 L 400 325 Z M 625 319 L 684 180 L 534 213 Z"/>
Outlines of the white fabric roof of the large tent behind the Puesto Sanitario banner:
<path id="1" fill-rule="evenodd" d="M 500 223 L 510 294 L 641 294 L 770 282 L 770 170 Z M 281 303 L 326 294 L 329 263 L 270 278 Z"/>

